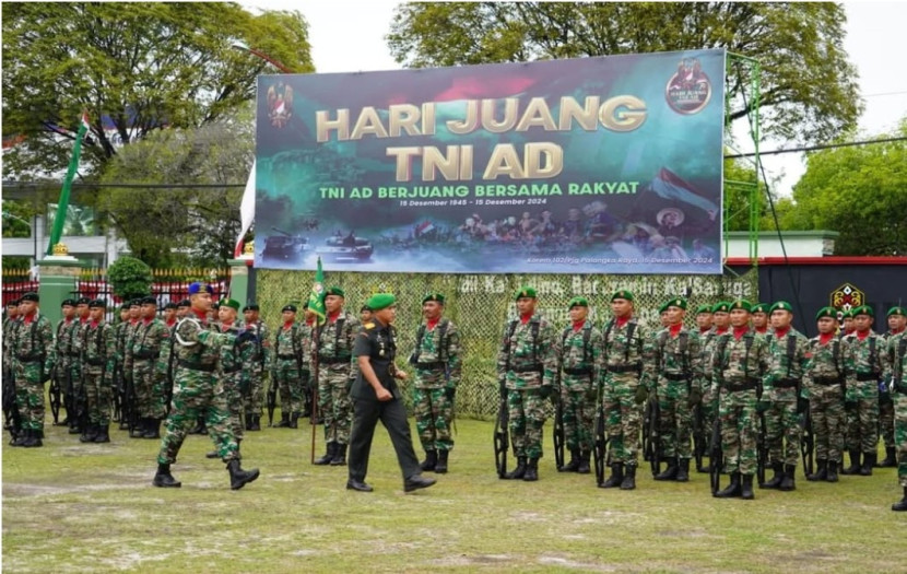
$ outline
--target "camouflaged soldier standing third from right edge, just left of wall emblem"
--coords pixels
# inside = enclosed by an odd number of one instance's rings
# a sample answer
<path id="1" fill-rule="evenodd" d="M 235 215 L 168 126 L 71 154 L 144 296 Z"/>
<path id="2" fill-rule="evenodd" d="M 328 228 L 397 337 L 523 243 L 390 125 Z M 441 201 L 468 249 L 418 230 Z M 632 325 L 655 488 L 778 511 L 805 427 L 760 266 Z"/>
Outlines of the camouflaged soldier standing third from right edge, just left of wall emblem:
<path id="1" fill-rule="evenodd" d="M 837 312 L 823 307 L 815 320 L 818 335 L 810 339 L 803 390 L 810 400 L 816 471 L 806 480 L 837 482 L 844 449 L 844 352 L 835 337 Z"/>

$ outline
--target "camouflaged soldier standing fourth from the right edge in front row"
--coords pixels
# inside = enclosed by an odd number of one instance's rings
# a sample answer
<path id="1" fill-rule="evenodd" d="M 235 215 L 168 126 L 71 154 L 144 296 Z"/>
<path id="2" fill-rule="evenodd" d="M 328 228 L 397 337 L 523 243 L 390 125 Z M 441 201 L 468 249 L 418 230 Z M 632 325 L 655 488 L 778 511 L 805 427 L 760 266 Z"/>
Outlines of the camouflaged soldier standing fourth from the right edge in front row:
<path id="1" fill-rule="evenodd" d="M 765 411 L 765 435 L 774 476 L 759 488 L 787 492 L 797 488 L 794 471 L 800 459 L 802 435 L 799 415 L 809 406 L 809 401 L 801 396 L 809 341 L 790 326 L 793 320 L 790 303 L 778 301 L 769 312 L 771 331 L 766 339 L 771 366 L 761 400 L 770 403 Z"/>

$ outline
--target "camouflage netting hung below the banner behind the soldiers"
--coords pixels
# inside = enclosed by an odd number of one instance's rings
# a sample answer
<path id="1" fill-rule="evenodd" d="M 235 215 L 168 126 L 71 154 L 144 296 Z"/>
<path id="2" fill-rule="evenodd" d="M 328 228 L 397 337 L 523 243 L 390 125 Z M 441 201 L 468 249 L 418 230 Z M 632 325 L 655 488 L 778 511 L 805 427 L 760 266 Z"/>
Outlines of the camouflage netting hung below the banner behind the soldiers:
<path id="1" fill-rule="evenodd" d="M 257 270 L 257 298 L 262 319 L 271 327 L 280 323 L 280 309 L 290 302 L 308 300 L 314 271 Z M 656 328 L 658 307 L 668 298 L 687 295 L 691 312 L 686 323 L 695 326 L 693 309 L 720 298 L 757 300 L 758 274 L 752 270 L 740 277 L 687 276 L 454 276 L 425 273 L 354 273 L 325 271 L 326 286 L 340 285 L 346 293 L 348 311 L 360 307 L 374 293 L 394 293 L 398 297 L 398 361 L 410 368 L 407 356 L 415 343 L 422 317 L 422 297 L 444 293 L 445 316 L 457 323 L 463 347 L 463 373 L 457 393 L 459 415 L 492 418 L 497 408 L 495 362 L 505 324 L 516 316 L 514 292 L 521 285 L 534 286 L 539 311 L 558 329 L 567 325 L 567 302 L 576 295 L 589 298 L 590 318 L 601 325 L 610 316 L 609 295 L 628 289 L 636 296 L 640 321 Z M 409 395 L 409 394 L 407 394 Z"/>

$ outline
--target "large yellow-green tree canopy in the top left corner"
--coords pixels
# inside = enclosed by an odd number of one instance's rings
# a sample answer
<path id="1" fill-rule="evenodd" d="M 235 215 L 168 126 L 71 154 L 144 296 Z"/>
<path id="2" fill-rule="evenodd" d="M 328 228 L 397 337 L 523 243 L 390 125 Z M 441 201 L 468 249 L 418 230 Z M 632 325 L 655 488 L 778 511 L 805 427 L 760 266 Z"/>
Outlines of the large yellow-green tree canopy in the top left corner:
<path id="1" fill-rule="evenodd" d="M 255 97 L 268 62 L 243 42 L 297 72 L 313 71 L 298 12 L 252 15 L 235 3 L 11 3 L 3 7 L 3 175 L 47 174 L 69 160 L 78 120 L 99 172 L 121 145 L 164 127 L 215 121 Z"/>

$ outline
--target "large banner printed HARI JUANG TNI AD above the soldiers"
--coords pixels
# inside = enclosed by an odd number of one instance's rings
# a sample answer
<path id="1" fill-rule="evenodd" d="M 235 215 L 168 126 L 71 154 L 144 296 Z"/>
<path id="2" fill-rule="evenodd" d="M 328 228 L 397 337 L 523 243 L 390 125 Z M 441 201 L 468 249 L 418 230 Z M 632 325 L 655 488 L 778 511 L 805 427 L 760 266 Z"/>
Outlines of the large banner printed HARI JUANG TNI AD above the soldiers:
<path id="1" fill-rule="evenodd" d="M 256 266 L 721 272 L 725 51 L 263 75 Z"/>

